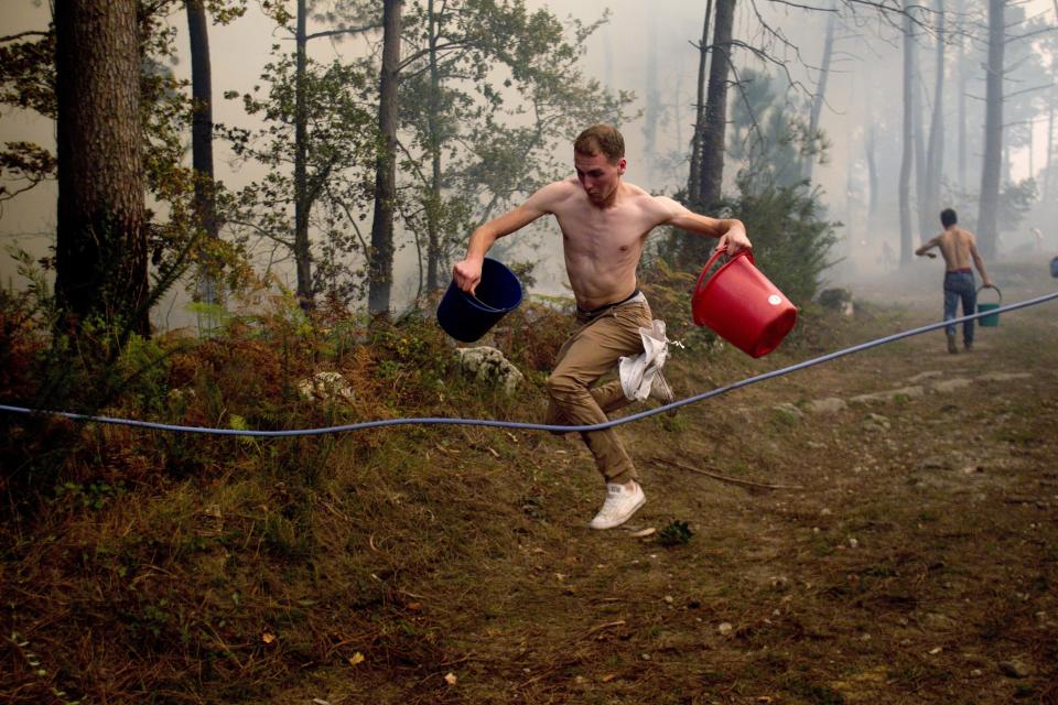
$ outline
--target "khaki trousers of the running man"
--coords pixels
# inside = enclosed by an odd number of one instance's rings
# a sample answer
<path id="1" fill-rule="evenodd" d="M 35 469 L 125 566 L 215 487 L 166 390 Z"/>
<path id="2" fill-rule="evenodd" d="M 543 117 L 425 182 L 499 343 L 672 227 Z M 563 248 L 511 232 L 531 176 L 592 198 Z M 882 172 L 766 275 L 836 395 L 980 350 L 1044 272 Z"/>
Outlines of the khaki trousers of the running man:
<path id="1" fill-rule="evenodd" d="M 649 328 L 651 319 L 650 305 L 641 294 L 598 312 L 577 311 L 573 332 L 559 349 L 548 378 L 551 403 L 547 423 L 605 423 L 607 413 L 628 405 L 619 379 L 592 384 L 616 368 L 623 356 L 643 352 L 639 328 Z M 614 429 L 582 432 L 581 437 L 607 482 L 636 479 L 636 468 Z"/>

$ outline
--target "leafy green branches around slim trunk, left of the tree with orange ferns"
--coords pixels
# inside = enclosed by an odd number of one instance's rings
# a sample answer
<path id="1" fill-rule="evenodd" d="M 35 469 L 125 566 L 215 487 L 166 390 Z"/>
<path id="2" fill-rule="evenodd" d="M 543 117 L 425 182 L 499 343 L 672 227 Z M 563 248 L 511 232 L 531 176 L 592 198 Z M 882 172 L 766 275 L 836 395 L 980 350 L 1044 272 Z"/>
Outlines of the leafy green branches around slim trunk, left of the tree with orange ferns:
<path id="1" fill-rule="evenodd" d="M 220 127 L 237 159 L 267 169 L 266 175 L 244 187 L 229 204 L 229 227 L 236 242 L 250 253 L 277 246 L 299 262 L 313 267 L 314 293 L 326 292 L 347 303 L 363 294 L 367 240 L 361 229 L 374 193 L 377 127 L 370 105 L 368 70 L 334 61 L 309 61 L 301 83 L 306 121 L 305 187 L 296 187 L 298 74 L 293 54 L 272 47 L 274 59 L 261 79 L 240 98 L 247 115 L 264 126 L 256 131 Z M 310 147 L 311 145 L 311 147 Z M 301 197 L 302 203 L 296 199 Z M 303 251 L 293 238 L 300 205 L 305 218 L 321 232 Z"/>

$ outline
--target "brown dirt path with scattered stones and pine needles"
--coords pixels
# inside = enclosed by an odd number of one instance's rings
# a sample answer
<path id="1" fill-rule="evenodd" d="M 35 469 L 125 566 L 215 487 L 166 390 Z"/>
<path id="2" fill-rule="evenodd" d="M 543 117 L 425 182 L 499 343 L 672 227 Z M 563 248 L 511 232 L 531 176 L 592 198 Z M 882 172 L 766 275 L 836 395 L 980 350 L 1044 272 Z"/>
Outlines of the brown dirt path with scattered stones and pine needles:
<path id="1" fill-rule="evenodd" d="M 1007 303 L 1054 290 L 1015 273 Z M 884 306 L 836 343 L 936 321 L 935 286 L 865 286 Z M 595 479 L 549 437 L 510 490 L 517 535 L 406 585 L 429 649 L 276 702 L 1058 702 L 1058 304 L 979 328 L 969 355 L 927 334 L 635 426 L 635 527 L 584 528 Z M 659 541 L 673 522 L 685 544 Z"/>

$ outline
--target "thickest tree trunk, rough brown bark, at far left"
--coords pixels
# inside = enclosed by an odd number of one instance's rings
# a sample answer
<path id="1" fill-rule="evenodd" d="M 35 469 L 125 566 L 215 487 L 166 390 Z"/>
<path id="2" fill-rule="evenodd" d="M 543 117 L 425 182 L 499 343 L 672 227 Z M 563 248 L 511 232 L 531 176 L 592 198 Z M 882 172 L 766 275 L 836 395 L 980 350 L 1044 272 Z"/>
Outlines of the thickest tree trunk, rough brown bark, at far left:
<path id="1" fill-rule="evenodd" d="M 56 299 L 147 336 L 137 1 L 56 3 L 55 73 Z"/>

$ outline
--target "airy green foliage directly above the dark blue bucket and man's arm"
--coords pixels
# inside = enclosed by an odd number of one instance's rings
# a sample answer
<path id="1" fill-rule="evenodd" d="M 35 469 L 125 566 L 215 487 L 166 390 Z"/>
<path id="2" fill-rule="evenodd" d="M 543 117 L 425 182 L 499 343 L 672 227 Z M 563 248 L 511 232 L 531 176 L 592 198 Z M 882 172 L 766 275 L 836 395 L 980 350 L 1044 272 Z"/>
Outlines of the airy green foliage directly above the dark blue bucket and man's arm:
<path id="1" fill-rule="evenodd" d="M 565 173 L 568 156 L 554 158 L 560 143 L 587 124 L 620 121 L 630 96 L 577 67 L 604 21 L 563 26 L 522 0 L 408 8 L 401 122 L 415 149 L 401 171 L 413 176 L 419 204 L 406 223 L 431 271 L 447 269 L 475 223 Z"/>

